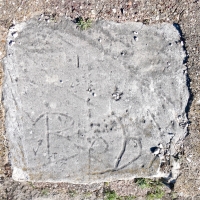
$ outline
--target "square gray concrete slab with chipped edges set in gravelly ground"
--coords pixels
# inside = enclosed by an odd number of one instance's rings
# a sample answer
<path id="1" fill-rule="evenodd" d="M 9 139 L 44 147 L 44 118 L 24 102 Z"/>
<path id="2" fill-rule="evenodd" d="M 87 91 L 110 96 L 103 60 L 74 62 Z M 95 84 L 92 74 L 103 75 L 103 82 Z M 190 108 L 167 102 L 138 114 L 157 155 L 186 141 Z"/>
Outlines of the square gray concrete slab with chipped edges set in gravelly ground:
<path id="1" fill-rule="evenodd" d="M 32 19 L 11 27 L 3 102 L 13 178 L 167 176 L 160 166 L 187 129 L 184 58 L 167 23 L 100 21 L 80 31 L 67 19 Z"/>

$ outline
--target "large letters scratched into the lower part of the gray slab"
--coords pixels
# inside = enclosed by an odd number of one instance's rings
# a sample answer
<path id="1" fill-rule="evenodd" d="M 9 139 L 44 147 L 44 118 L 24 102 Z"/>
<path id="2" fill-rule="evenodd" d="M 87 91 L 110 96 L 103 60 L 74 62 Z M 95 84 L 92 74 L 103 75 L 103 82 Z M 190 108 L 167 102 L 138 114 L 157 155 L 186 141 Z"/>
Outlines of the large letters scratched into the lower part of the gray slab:
<path id="1" fill-rule="evenodd" d="M 89 174 L 104 174 L 106 172 L 114 172 L 126 168 L 141 156 L 142 144 L 138 137 L 128 136 L 124 125 L 117 116 L 111 115 L 110 125 L 104 124 L 103 129 L 101 124 L 91 123 L 88 127 L 92 129 L 93 137 L 85 136 L 85 133 L 78 130 L 74 134 L 74 120 L 64 113 L 45 113 L 40 115 L 33 122 L 33 135 L 36 138 L 33 154 L 38 156 L 38 151 L 41 149 L 46 152 L 46 158 L 43 164 L 56 164 L 59 167 L 64 167 L 68 162 L 72 163 L 73 159 L 77 159 L 82 152 L 88 154 Z M 96 127 L 96 128 L 95 128 Z M 38 135 L 38 130 L 43 128 L 43 135 Z M 118 154 L 116 157 L 109 157 L 112 146 L 115 146 L 115 135 L 113 141 L 110 141 L 110 131 L 120 132 L 121 143 L 118 146 Z M 87 132 L 87 131 L 86 131 Z M 56 141 L 56 142 L 55 142 Z M 76 141 L 76 142 L 74 142 Z M 59 144 L 59 145 L 56 145 Z M 89 149 L 87 149 L 87 146 Z M 107 159 L 106 159 L 107 158 Z M 38 158 L 39 159 L 39 158 Z M 100 169 L 103 169 L 101 171 Z"/>

